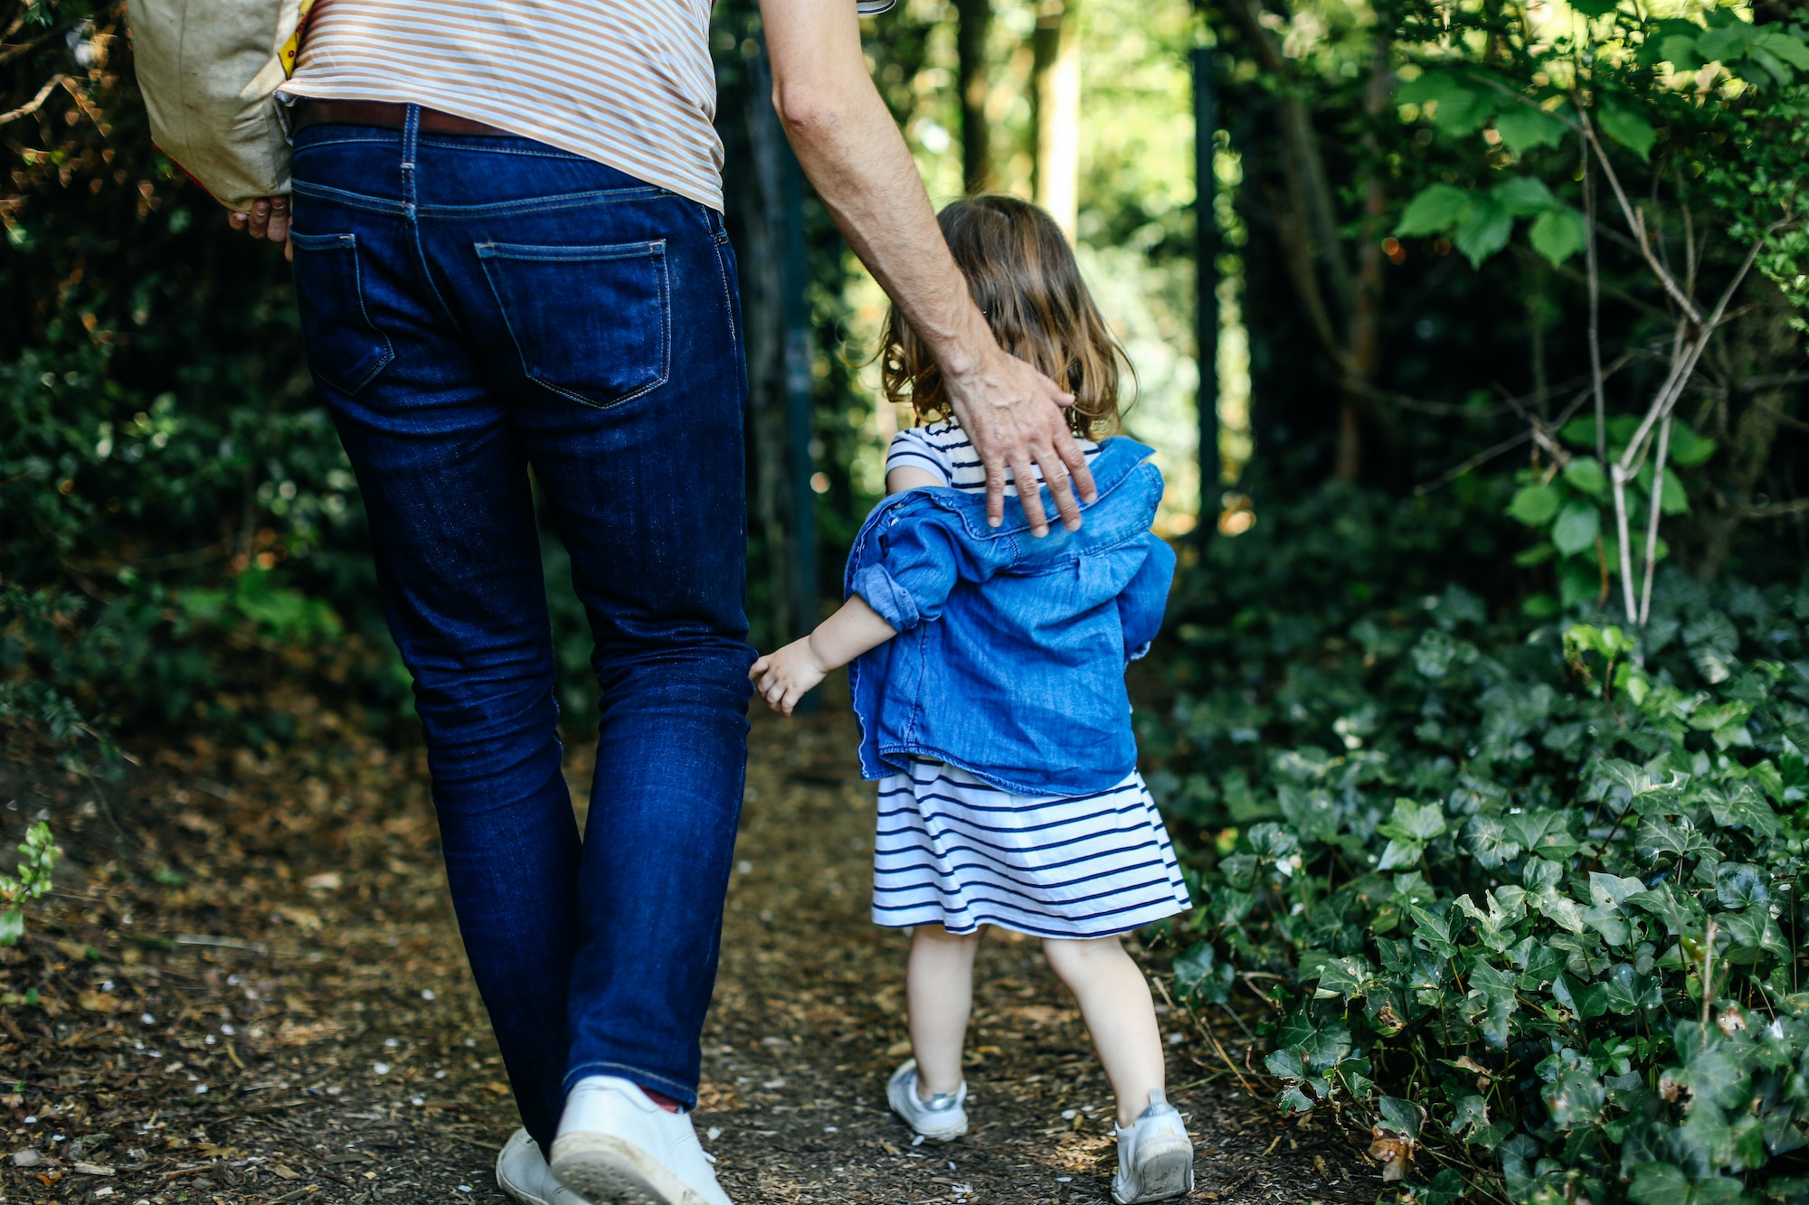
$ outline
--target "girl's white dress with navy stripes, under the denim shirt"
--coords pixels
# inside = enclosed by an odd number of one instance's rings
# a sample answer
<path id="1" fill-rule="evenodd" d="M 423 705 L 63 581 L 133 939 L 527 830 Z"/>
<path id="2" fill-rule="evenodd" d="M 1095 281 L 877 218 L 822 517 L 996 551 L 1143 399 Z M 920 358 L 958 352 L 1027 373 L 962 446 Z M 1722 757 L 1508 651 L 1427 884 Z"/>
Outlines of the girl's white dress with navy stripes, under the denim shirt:
<path id="1" fill-rule="evenodd" d="M 1098 445 L 1082 440 L 1091 461 Z M 979 492 L 986 472 L 953 420 L 901 431 L 886 472 L 923 469 Z M 1008 483 L 1006 490 L 1015 496 Z M 1024 796 L 955 765 L 914 760 L 879 780 L 874 923 L 997 925 L 1033 937 L 1105 937 L 1192 906 L 1156 802 L 1132 771 L 1105 791 Z"/>

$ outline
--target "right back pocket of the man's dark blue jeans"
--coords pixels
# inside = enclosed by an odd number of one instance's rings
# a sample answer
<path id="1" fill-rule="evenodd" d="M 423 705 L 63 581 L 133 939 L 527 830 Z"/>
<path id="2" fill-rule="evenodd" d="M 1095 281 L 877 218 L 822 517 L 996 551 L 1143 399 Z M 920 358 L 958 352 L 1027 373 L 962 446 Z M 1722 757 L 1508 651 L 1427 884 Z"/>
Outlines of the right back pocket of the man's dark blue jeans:
<path id="1" fill-rule="evenodd" d="M 478 257 L 528 380 L 584 405 L 666 384 L 666 241 L 615 246 L 479 242 Z"/>

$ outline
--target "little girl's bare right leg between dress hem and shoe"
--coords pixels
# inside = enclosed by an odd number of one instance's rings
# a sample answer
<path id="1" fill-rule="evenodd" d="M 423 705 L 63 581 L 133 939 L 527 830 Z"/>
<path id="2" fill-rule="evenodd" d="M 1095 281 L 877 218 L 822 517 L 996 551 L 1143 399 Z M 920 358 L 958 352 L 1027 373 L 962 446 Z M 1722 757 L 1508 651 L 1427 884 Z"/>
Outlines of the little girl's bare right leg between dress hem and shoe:
<path id="1" fill-rule="evenodd" d="M 1156 1006 L 1149 999 L 1143 972 L 1118 937 L 1046 937 L 1042 952 L 1049 968 L 1080 1002 L 1093 1048 L 1100 1051 L 1113 1095 L 1118 1096 L 1118 1125 L 1125 1127 L 1149 1107 L 1149 1093 L 1165 1087 L 1161 1035 L 1156 1031 Z"/>

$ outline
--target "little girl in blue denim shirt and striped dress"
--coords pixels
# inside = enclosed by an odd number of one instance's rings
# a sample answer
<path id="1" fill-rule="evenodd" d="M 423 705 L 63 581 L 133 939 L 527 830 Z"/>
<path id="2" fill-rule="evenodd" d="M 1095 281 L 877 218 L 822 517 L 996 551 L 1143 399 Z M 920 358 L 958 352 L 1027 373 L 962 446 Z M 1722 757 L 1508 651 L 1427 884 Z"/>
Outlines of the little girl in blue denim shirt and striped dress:
<path id="1" fill-rule="evenodd" d="M 848 555 L 848 601 L 753 677 L 791 715 L 854 662 L 861 769 L 879 780 L 874 921 L 912 930 L 915 1058 L 886 1087 L 892 1107 L 924 1138 L 966 1133 L 961 1048 L 980 934 L 1040 937 L 1118 1096 L 1113 1200 L 1160 1201 L 1192 1189 L 1194 1149 L 1165 1100 L 1149 986 L 1118 937 L 1190 906 L 1136 773 L 1123 684 L 1174 575 L 1149 530 L 1161 474 L 1151 449 L 1089 438 L 1118 416 L 1122 353 L 1049 215 L 977 197 L 942 210 L 941 226 L 999 344 L 1075 394 L 1098 501 L 1078 532 L 1031 537 L 1022 512 L 990 527 L 979 456 L 894 311 L 886 396 L 928 425 L 892 440 L 888 498 Z"/>

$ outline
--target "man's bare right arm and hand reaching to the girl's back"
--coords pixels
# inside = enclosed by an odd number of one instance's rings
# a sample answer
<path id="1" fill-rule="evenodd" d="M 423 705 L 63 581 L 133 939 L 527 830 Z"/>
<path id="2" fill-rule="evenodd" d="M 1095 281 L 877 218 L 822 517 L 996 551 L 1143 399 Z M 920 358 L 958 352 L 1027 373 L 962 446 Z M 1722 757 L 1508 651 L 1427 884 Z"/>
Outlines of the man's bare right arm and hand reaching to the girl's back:
<path id="1" fill-rule="evenodd" d="M 1071 489 L 1096 498 L 1067 431 L 1073 398 L 999 347 L 955 268 L 897 123 L 867 74 L 854 0 L 762 0 L 772 103 L 805 176 L 854 253 L 928 344 L 955 416 L 986 465 L 986 516 L 1004 519 L 1004 470 L 1042 469 L 1062 523 L 1080 527 Z M 1049 530 L 1038 490 L 1020 489 L 1031 530 Z"/>

